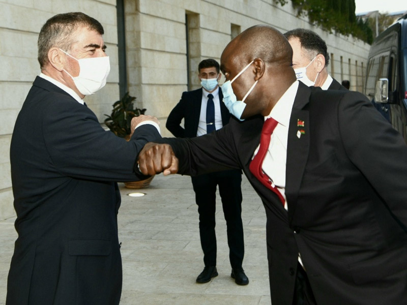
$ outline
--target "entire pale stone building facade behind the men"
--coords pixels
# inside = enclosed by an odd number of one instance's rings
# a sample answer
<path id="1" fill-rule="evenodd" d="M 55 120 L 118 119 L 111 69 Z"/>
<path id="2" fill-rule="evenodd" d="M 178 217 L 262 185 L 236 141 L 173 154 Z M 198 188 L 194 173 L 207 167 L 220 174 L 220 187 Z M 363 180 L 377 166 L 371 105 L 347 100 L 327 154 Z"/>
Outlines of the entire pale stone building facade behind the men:
<path id="1" fill-rule="evenodd" d="M 99 120 L 124 92 L 161 121 L 185 90 L 199 87 L 197 65 L 219 60 L 231 38 L 266 23 L 286 32 L 309 28 L 327 42 L 329 72 L 362 92 L 369 45 L 330 34 L 298 18 L 290 2 L 273 0 L 0 0 L 0 219 L 14 217 L 9 148 L 16 116 L 36 75 L 41 26 L 57 13 L 84 12 L 105 28 L 111 72 L 107 85 L 86 97 Z M 57 102 L 57 101 L 56 101 Z"/>

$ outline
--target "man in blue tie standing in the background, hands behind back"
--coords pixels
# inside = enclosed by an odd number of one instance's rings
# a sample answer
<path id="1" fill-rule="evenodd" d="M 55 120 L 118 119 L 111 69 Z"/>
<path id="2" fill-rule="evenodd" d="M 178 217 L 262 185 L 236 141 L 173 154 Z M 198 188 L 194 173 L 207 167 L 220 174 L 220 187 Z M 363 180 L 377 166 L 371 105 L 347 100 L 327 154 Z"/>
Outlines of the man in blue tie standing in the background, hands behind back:
<path id="1" fill-rule="evenodd" d="M 215 59 L 202 60 L 198 65 L 202 87 L 182 94 L 180 102 L 168 115 L 166 127 L 178 138 L 193 138 L 221 129 L 229 122 L 230 113 L 222 103 L 218 86 L 221 73 Z M 184 128 L 180 126 L 184 119 Z M 207 283 L 218 275 L 216 269 L 215 207 L 216 187 L 222 199 L 227 226 L 227 243 L 231 277 L 238 285 L 249 284 L 242 268 L 244 238 L 242 224 L 242 172 L 232 169 L 192 177 L 195 201 L 198 205 L 199 235 L 205 267 L 196 279 Z"/>

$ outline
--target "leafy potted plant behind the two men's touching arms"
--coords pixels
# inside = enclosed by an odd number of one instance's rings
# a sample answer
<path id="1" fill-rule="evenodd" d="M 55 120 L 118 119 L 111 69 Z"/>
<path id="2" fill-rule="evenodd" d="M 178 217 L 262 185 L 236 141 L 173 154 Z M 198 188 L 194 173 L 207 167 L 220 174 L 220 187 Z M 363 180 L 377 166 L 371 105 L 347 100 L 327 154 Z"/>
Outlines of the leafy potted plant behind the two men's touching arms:
<path id="1" fill-rule="evenodd" d="M 129 95 L 127 92 L 119 101 L 114 102 L 113 110 L 110 115 L 104 120 L 106 126 L 115 135 L 121 138 L 130 140 L 131 119 L 146 112 L 146 109 L 134 108 L 134 100 L 136 98 Z M 124 182 L 125 187 L 129 189 L 143 189 L 150 186 L 150 182 L 154 176 L 140 181 Z"/>

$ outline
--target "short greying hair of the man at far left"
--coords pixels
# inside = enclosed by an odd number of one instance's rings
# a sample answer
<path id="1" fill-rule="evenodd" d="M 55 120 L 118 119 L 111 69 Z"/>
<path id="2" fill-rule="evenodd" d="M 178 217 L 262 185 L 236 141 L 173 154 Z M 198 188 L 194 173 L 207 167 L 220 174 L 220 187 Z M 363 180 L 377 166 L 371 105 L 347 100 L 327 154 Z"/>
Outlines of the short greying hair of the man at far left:
<path id="1" fill-rule="evenodd" d="M 38 37 L 38 62 L 41 68 L 48 63 L 48 51 L 59 47 L 69 52 L 74 40 L 72 33 L 78 26 L 87 26 L 100 35 L 104 34 L 103 26 L 98 20 L 80 12 L 57 14 L 42 26 Z"/>

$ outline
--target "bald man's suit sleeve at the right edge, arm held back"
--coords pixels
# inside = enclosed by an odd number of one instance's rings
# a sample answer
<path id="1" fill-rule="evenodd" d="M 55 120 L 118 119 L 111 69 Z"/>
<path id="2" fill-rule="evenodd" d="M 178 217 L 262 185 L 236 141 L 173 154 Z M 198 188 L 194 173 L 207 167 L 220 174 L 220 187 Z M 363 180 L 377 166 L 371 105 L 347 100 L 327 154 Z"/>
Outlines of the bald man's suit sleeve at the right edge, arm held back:
<path id="1" fill-rule="evenodd" d="M 339 103 L 339 132 L 346 153 L 407 228 L 407 145 L 359 93 Z"/>

